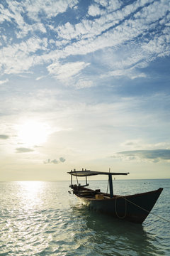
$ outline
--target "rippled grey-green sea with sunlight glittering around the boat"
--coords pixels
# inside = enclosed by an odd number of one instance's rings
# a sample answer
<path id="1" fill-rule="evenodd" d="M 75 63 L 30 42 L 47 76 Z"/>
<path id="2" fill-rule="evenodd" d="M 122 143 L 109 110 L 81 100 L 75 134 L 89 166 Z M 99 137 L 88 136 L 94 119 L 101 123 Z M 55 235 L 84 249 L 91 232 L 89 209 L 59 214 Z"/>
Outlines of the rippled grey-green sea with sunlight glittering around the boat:
<path id="1" fill-rule="evenodd" d="M 107 190 L 107 181 L 90 183 Z M 113 181 L 120 195 L 159 187 L 141 225 L 89 210 L 69 181 L 0 182 L 0 256 L 170 255 L 170 179 Z"/>

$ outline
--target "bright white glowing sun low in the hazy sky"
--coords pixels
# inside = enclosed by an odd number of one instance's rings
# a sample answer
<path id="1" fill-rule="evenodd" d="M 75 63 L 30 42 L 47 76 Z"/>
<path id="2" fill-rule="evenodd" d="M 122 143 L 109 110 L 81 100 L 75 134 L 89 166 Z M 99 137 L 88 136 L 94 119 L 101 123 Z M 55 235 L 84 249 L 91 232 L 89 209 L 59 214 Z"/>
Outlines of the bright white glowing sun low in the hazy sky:
<path id="1" fill-rule="evenodd" d="M 49 134 L 49 125 L 35 120 L 28 120 L 18 126 L 19 142 L 29 146 L 45 143 Z"/>

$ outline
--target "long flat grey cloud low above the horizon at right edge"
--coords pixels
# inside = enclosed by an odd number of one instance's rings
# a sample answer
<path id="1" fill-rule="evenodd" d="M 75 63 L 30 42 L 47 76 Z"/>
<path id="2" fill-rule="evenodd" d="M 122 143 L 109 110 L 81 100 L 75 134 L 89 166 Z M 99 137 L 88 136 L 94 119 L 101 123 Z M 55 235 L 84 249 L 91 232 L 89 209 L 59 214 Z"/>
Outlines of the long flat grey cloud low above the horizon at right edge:
<path id="1" fill-rule="evenodd" d="M 170 161 L 170 149 L 153 149 L 153 150 L 132 150 L 122 151 L 114 154 L 114 158 L 125 161 L 152 161 L 157 163 L 159 161 Z"/>

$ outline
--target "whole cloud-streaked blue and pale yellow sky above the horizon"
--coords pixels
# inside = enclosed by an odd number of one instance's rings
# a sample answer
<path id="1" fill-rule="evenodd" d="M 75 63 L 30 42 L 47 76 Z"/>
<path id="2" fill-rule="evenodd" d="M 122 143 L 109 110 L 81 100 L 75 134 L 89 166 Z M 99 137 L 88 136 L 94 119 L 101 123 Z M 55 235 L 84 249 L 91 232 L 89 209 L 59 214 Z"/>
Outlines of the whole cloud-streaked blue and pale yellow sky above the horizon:
<path id="1" fill-rule="evenodd" d="M 169 85 L 169 0 L 1 0 L 0 180 L 170 178 Z"/>

